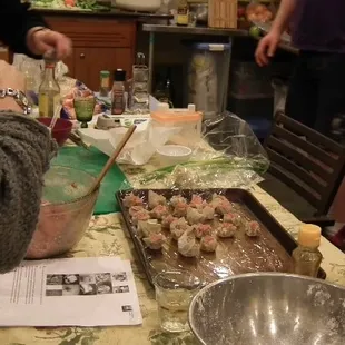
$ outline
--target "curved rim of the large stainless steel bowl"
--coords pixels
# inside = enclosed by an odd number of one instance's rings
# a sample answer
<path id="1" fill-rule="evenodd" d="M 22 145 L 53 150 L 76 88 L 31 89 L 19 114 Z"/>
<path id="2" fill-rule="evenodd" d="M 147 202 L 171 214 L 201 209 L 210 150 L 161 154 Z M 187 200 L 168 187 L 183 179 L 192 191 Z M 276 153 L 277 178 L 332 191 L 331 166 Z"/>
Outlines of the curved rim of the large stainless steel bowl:
<path id="1" fill-rule="evenodd" d="M 289 273 L 246 273 L 246 274 L 239 274 L 239 275 L 234 275 L 231 277 L 225 278 L 225 279 L 219 279 L 216 280 L 214 283 L 210 283 L 208 285 L 206 285 L 204 288 L 201 288 L 191 299 L 191 303 L 189 305 L 189 310 L 188 310 L 188 323 L 190 326 L 191 332 L 197 336 L 195 329 L 194 329 L 194 325 L 191 322 L 193 318 L 193 309 L 195 304 L 197 303 L 197 300 L 199 299 L 199 297 L 201 295 L 205 294 L 205 290 L 211 288 L 215 285 L 220 285 L 223 283 L 226 282 L 231 282 L 231 280 L 237 280 L 237 279 L 243 279 L 243 278 L 254 278 L 254 277 L 285 277 L 285 278 L 297 278 L 297 279 L 302 279 L 302 280 L 307 280 L 310 283 L 318 283 L 322 285 L 326 285 L 326 286 L 332 286 L 332 287 L 336 287 L 339 288 L 345 292 L 345 287 L 338 284 L 334 284 L 334 283 L 329 283 L 326 280 L 322 280 L 322 279 L 317 279 L 317 278 L 312 278 L 312 277 L 307 277 L 307 276 L 300 276 L 300 275 L 296 275 L 296 274 L 289 274 Z M 203 345 L 207 345 L 205 342 L 203 342 L 201 339 L 199 339 L 199 342 L 201 342 Z"/>

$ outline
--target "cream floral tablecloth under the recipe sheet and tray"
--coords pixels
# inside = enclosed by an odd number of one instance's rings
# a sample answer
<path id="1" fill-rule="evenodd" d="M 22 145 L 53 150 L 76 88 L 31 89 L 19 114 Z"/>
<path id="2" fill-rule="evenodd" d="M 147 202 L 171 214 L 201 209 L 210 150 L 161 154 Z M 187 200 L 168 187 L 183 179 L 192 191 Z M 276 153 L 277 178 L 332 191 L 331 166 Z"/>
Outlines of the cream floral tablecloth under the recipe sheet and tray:
<path id="1" fill-rule="evenodd" d="M 294 236 L 299 221 L 259 187 L 252 188 L 254 195 L 273 216 Z M 327 279 L 345 285 L 345 255 L 323 238 L 321 250 L 323 268 Z M 90 227 L 79 245 L 67 257 L 120 256 L 130 259 L 136 276 L 137 290 L 142 313 L 142 326 L 136 327 L 63 327 L 63 328 L 0 328 L 1 345 L 193 345 L 190 334 L 168 335 L 158 326 L 157 305 L 152 288 L 136 258 L 134 246 L 122 226 L 121 216 L 112 214 L 91 220 Z M 66 306 L 68 307 L 68 306 Z"/>

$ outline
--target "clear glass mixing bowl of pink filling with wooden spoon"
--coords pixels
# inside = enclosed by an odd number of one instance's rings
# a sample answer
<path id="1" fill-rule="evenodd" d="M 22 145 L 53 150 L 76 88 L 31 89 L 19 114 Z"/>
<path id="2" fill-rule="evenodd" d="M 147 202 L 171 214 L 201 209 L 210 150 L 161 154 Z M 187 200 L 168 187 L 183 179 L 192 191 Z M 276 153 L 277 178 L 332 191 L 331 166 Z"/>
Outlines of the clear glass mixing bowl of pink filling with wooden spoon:
<path id="1" fill-rule="evenodd" d="M 95 177 L 53 166 L 45 176 L 43 200 L 27 258 L 49 258 L 71 249 L 89 226 L 98 190 L 88 194 Z"/>

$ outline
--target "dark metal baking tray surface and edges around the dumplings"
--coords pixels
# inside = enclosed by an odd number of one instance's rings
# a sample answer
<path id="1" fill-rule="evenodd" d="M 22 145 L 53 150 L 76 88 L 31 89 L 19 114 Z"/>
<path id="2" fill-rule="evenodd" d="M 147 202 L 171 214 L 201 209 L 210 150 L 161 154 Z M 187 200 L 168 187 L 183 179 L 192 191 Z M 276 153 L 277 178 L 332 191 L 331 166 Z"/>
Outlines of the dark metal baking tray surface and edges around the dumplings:
<path id="1" fill-rule="evenodd" d="M 174 195 L 181 195 L 188 201 L 193 195 L 200 195 L 209 200 L 213 194 L 224 195 L 234 205 L 234 211 L 240 214 L 248 220 L 257 220 L 262 227 L 258 238 L 249 238 L 244 231 L 236 238 L 220 239 L 215 254 L 201 253 L 198 258 L 186 258 L 178 254 L 177 241 L 170 233 L 164 231 L 167 241 L 161 250 L 150 250 L 136 235 L 136 226 L 132 225 L 128 209 L 122 199 L 134 193 L 148 201 L 149 189 L 122 190 L 117 193 L 126 226 L 135 244 L 136 250 L 144 265 L 149 282 L 152 284 L 157 273 L 162 270 L 188 270 L 197 275 L 203 282 L 210 283 L 226 278 L 233 274 L 253 272 L 293 272 L 292 252 L 297 247 L 295 239 L 279 225 L 279 223 L 267 211 L 267 209 L 245 189 L 150 189 L 164 195 L 168 200 Z M 318 277 L 326 278 L 323 269 Z"/>

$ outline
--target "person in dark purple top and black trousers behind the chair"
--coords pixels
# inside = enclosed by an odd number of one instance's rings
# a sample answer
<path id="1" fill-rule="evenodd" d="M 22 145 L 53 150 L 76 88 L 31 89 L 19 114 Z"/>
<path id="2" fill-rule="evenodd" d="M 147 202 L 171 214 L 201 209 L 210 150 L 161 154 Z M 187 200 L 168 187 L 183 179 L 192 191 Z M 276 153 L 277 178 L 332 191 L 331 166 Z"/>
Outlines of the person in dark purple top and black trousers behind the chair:
<path id="1" fill-rule="evenodd" d="M 299 49 L 285 112 L 331 136 L 332 121 L 345 114 L 345 1 L 282 0 L 270 31 L 255 52 L 259 66 L 275 56 L 280 37 L 292 26 L 292 43 Z M 345 183 L 333 205 L 335 226 L 329 239 L 345 249 Z"/>

